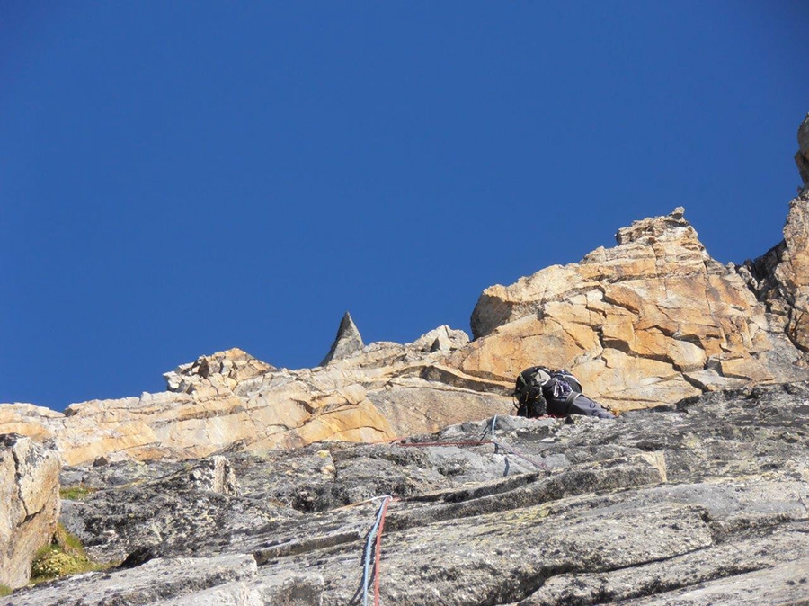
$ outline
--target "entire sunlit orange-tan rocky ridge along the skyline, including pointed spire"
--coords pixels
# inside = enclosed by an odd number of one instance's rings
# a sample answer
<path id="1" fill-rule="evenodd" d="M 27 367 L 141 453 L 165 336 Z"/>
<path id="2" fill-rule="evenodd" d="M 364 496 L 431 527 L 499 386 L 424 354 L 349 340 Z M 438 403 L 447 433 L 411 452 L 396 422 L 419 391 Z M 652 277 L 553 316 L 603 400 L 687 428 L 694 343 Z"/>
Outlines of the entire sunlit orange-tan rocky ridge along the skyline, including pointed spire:
<path id="1" fill-rule="evenodd" d="M 620 229 L 617 245 L 486 289 L 475 340 L 449 326 L 413 343 L 362 345 L 348 314 L 314 369 L 238 349 L 165 375 L 167 391 L 69 405 L 0 405 L 0 432 L 53 440 L 69 464 L 98 457 L 199 458 L 436 431 L 511 411 L 513 377 L 573 371 L 621 412 L 745 384 L 809 377 L 809 196 L 785 239 L 740 265 L 707 254 L 683 209 Z"/>

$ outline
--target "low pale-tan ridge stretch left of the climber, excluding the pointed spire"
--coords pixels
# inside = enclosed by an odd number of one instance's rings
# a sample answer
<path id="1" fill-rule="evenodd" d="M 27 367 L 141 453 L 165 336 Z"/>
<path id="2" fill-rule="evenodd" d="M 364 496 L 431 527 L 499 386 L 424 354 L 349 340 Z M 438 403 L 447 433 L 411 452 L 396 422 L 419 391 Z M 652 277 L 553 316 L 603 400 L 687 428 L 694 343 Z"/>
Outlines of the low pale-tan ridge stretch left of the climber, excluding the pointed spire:
<path id="1" fill-rule="evenodd" d="M 54 441 L 63 459 L 77 464 L 378 441 L 508 412 L 504 385 L 442 365 L 462 343 L 463 331 L 440 326 L 413 343 L 371 343 L 302 370 L 277 369 L 231 349 L 166 373 L 162 393 L 69 405 L 64 414 L 0 405 L 0 433 Z"/>

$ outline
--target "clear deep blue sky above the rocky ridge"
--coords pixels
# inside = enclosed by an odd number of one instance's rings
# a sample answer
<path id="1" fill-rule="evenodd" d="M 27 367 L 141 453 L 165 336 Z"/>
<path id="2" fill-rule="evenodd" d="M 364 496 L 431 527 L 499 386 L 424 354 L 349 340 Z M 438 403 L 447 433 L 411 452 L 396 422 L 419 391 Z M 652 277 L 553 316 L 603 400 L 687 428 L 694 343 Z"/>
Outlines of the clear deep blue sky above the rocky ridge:
<path id="1" fill-rule="evenodd" d="M 0 402 L 468 332 L 480 292 L 677 206 L 781 239 L 796 2 L 0 4 Z"/>

